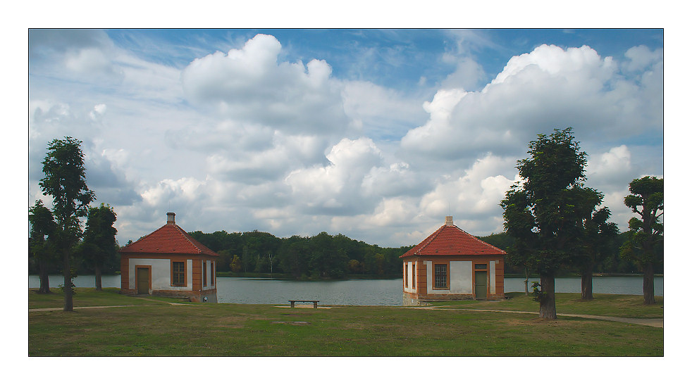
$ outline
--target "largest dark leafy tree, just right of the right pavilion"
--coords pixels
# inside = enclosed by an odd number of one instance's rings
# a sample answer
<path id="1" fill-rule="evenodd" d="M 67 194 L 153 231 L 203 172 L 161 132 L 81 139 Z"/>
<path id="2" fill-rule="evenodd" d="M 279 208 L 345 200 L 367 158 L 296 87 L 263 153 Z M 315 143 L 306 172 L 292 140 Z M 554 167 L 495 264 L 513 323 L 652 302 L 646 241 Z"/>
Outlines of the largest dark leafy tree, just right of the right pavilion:
<path id="1" fill-rule="evenodd" d="M 509 258 L 538 273 L 539 316 L 555 319 L 555 274 L 571 259 L 583 223 L 586 153 L 579 151 L 571 127 L 538 134 L 528 153 L 530 158 L 517 162 L 523 183 L 514 184 L 500 206 L 505 231 L 516 240 Z"/>

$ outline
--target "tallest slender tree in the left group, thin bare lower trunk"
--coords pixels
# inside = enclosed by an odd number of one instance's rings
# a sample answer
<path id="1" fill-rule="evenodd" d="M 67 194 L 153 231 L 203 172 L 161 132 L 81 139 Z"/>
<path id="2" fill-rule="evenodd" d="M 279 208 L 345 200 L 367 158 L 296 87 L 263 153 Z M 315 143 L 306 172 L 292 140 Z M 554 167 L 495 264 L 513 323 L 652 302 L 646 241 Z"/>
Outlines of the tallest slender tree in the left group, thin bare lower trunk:
<path id="1" fill-rule="evenodd" d="M 94 191 L 87 187 L 81 144 L 71 137 L 51 141 L 42 163 L 45 177 L 39 182 L 44 194 L 53 197 L 56 247 L 63 257 L 64 311 L 73 310 L 72 256 L 81 236 L 80 217 L 87 215 L 94 200 Z"/>

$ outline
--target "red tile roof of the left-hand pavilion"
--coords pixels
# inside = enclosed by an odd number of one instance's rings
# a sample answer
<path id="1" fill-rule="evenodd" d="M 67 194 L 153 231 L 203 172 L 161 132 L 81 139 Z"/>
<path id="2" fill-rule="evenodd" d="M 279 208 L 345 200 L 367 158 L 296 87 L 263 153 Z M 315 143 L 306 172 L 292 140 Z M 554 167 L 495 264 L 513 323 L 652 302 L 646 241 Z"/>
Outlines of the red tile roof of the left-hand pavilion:
<path id="1" fill-rule="evenodd" d="M 175 224 L 163 225 L 139 241 L 120 249 L 121 253 L 176 253 L 218 256 Z"/>

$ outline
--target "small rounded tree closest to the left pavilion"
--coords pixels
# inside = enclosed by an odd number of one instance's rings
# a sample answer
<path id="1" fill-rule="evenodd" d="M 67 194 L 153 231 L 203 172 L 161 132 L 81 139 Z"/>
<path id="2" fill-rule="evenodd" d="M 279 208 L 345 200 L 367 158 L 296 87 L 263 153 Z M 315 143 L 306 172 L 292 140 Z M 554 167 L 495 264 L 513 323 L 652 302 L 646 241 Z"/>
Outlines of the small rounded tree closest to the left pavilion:
<path id="1" fill-rule="evenodd" d="M 101 271 L 104 263 L 117 253 L 118 230 L 113 227 L 115 222 L 116 213 L 106 203 L 101 203 L 99 207 L 89 208 L 81 254 L 94 267 L 97 290 L 101 290 Z"/>

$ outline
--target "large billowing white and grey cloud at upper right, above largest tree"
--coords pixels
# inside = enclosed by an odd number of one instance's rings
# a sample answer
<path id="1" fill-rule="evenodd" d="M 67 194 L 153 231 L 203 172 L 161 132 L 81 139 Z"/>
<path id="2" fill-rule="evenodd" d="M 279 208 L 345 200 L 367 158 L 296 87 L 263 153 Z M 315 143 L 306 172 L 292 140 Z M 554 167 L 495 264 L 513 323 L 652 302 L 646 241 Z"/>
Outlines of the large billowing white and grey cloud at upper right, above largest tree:
<path id="1" fill-rule="evenodd" d="M 657 72 L 651 77 L 660 84 Z M 402 147 L 439 159 L 521 156 L 537 133 L 553 128 L 574 127 L 590 141 L 636 136 L 662 127 L 662 111 L 647 106 L 652 92 L 588 46 L 542 45 L 512 57 L 482 91 L 440 89 L 426 103 L 428 122 L 410 130 Z"/>

